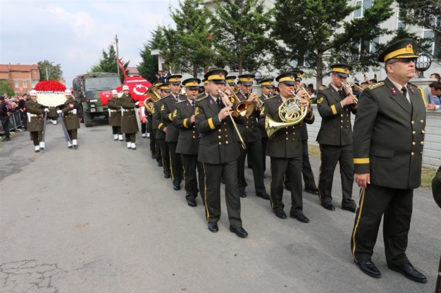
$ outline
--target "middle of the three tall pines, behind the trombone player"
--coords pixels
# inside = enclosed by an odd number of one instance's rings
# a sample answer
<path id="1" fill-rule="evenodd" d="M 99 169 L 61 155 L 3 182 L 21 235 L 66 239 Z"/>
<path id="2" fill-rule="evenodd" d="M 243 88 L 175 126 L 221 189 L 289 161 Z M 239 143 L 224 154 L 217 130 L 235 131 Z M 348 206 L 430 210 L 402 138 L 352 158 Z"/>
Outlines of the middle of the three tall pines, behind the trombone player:
<path id="1" fill-rule="evenodd" d="M 269 64 L 271 11 L 266 10 L 263 0 L 215 1 L 214 11 L 213 45 L 219 54 L 215 61 L 218 67 L 228 66 L 242 74 Z"/>

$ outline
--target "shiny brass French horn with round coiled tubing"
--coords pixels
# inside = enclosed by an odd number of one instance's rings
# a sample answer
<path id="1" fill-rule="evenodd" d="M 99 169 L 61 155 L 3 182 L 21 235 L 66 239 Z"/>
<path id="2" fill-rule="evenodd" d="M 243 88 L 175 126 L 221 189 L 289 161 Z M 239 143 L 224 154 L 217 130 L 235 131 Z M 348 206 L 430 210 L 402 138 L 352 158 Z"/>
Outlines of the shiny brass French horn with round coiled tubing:
<path id="1" fill-rule="evenodd" d="M 265 130 L 272 137 L 277 130 L 302 122 L 308 114 L 309 105 L 302 105 L 302 99 L 294 91 L 292 97 L 286 99 L 278 108 L 278 117 L 282 122 L 274 121 L 269 115 L 265 117 Z"/>

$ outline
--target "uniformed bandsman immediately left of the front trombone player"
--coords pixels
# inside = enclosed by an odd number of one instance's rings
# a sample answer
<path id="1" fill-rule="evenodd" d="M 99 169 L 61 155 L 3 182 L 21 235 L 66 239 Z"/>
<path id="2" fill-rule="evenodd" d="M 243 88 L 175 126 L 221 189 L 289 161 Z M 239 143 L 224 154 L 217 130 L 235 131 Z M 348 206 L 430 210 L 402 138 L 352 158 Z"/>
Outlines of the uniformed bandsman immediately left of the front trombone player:
<path id="1" fill-rule="evenodd" d="M 173 125 L 179 130 L 178 145 L 176 154 L 182 155 L 184 169 L 185 199 L 190 207 L 196 207 L 196 196 L 201 190 L 201 198 L 204 199 L 204 173 L 203 165 L 198 162 L 199 132 L 194 125 L 194 110 L 196 108 L 196 97 L 198 95 L 201 79 L 185 79 L 185 100 L 176 103 L 176 110 L 173 113 Z M 196 177 L 196 169 L 198 177 Z M 196 179 L 197 178 L 197 179 Z"/>

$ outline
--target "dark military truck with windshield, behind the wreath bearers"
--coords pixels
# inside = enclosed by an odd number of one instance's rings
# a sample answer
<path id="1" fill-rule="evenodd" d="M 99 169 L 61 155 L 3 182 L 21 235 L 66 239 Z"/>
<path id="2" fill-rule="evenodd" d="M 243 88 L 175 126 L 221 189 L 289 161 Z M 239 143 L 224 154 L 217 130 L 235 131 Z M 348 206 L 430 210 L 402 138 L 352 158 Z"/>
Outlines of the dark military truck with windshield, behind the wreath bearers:
<path id="1" fill-rule="evenodd" d="M 85 127 L 92 126 L 96 117 L 109 117 L 107 105 L 102 105 L 99 92 L 107 92 L 121 86 L 118 74 L 110 72 L 92 72 L 74 78 L 73 94 L 81 103 L 82 121 Z"/>

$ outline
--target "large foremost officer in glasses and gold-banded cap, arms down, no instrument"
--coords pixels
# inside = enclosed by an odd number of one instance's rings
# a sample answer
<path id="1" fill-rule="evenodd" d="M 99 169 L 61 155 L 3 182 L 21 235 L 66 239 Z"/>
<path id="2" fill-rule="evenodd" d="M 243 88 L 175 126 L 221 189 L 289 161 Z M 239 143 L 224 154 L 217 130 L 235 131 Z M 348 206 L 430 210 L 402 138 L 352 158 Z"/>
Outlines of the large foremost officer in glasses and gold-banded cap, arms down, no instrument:
<path id="1" fill-rule="evenodd" d="M 353 125 L 355 181 L 362 188 L 351 236 L 353 260 L 379 278 L 371 256 L 383 220 L 387 267 L 426 283 L 406 256 L 413 189 L 421 184 L 426 106 L 422 89 L 409 83 L 418 58 L 413 39 L 392 43 L 380 53 L 387 78 L 368 85 L 358 100 Z"/>

